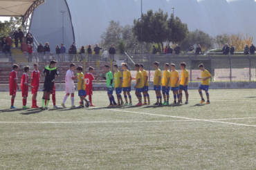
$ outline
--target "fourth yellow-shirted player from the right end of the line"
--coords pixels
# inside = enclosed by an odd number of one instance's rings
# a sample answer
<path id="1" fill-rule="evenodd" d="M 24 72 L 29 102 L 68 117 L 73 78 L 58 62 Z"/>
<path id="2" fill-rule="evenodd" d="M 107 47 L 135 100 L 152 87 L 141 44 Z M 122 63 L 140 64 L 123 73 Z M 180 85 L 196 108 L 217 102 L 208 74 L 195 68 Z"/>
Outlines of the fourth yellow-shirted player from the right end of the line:
<path id="1" fill-rule="evenodd" d="M 162 77 L 162 93 L 163 93 L 163 105 L 168 106 L 169 105 L 169 99 L 170 99 L 170 64 L 165 63 L 165 70 L 163 71 L 163 77 Z"/>

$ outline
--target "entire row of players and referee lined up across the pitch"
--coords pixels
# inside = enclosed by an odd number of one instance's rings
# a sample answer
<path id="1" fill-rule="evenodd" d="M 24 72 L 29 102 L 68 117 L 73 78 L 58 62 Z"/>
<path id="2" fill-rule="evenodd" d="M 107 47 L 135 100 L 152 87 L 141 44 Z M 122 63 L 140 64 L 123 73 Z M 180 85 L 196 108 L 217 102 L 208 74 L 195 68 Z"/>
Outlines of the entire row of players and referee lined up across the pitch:
<path id="1" fill-rule="evenodd" d="M 50 95 L 52 94 L 53 98 L 53 106 L 57 108 L 55 104 L 55 76 L 59 76 L 59 72 L 57 71 L 55 61 L 51 61 L 49 66 L 46 66 L 44 68 L 44 95 L 42 98 L 42 109 L 48 109 L 48 103 L 50 100 Z M 135 94 L 138 98 L 138 104 L 136 106 L 142 106 L 142 105 L 149 105 L 149 82 L 148 82 L 148 75 L 147 71 L 144 70 L 143 64 L 135 64 L 135 69 L 137 71 L 136 78 L 131 77 L 130 71 L 127 69 L 127 64 L 122 64 L 122 73 L 120 70 L 118 70 L 117 65 L 113 65 L 114 75 L 111 73 L 110 66 L 106 65 L 106 75 L 102 76 L 107 80 L 107 94 L 109 97 L 109 106 L 131 106 L 131 80 L 136 80 L 135 88 Z M 170 90 L 173 92 L 174 95 L 174 104 L 182 104 L 182 98 L 183 98 L 183 91 L 185 91 L 185 104 L 188 104 L 188 77 L 189 73 L 188 70 L 185 69 L 186 64 L 182 62 L 180 64 L 181 67 L 181 79 L 179 79 L 179 73 L 176 70 L 175 64 L 165 64 L 163 70 L 163 74 L 159 68 L 159 63 L 154 62 L 154 91 L 156 92 L 156 103 L 154 105 L 169 105 L 170 100 Z M 18 81 L 17 81 L 17 70 L 19 66 L 17 64 L 14 64 L 12 66 L 12 72 L 10 73 L 10 95 L 12 96 L 11 99 L 11 107 L 15 108 L 14 102 L 15 102 L 15 96 L 17 89 L 19 89 Z M 210 97 L 208 93 L 209 85 L 210 85 L 210 78 L 211 75 L 208 70 L 206 70 L 203 66 L 203 64 L 199 65 L 199 68 L 201 70 L 201 77 L 198 77 L 197 79 L 201 79 L 202 83 L 201 86 L 199 86 L 199 95 L 201 96 L 201 104 L 205 102 L 203 98 L 202 90 L 205 91 L 205 95 L 207 97 L 206 104 L 210 104 Z M 84 74 L 82 73 L 83 68 L 77 67 L 77 75 L 74 75 L 73 71 L 75 70 L 75 64 L 71 64 L 70 68 L 66 72 L 65 77 L 65 84 L 66 84 L 66 95 L 64 96 L 64 100 L 62 102 L 62 107 L 66 108 L 65 102 L 69 95 L 71 95 L 71 104 L 72 108 L 75 108 L 74 104 L 74 94 L 75 94 L 75 84 L 74 80 L 77 79 L 77 90 L 78 95 L 80 96 L 80 107 L 84 107 L 84 101 L 86 102 L 85 106 L 94 106 L 91 101 L 91 95 L 93 85 L 92 81 L 94 79 L 93 77 L 93 68 L 89 67 L 89 73 Z M 21 77 L 21 92 L 23 97 L 23 108 L 28 108 L 26 106 L 26 98 L 28 97 L 28 72 L 29 67 L 24 67 L 24 74 Z M 33 106 L 32 108 L 38 108 L 37 106 L 37 91 L 39 88 L 39 81 L 40 81 L 40 73 L 38 70 L 37 64 L 34 64 L 34 70 L 31 74 L 31 91 L 33 94 Z M 116 90 L 116 96 L 118 103 L 116 103 L 114 97 L 113 97 L 113 90 Z M 125 102 L 122 100 L 122 93 L 125 98 Z M 161 93 L 162 91 L 162 93 Z M 144 103 L 142 102 L 142 95 L 144 97 Z M 86 95 L 89 95 L 89 101 L 85 99 Z M 162 95 L 163 100 L 162 102 Z M 128 102 L 129 98 L 129 102 Z"/>

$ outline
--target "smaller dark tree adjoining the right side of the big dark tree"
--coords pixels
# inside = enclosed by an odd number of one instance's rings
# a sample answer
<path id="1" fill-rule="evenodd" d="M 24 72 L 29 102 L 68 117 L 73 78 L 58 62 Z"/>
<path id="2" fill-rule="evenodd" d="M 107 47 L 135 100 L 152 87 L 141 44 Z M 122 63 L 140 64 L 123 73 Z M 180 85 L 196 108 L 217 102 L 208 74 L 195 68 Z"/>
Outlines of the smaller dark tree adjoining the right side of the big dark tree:
<path id="1" fill-rule="evenodd" d="M 167 40 L 173 44 L 179 43 L 185 39 L 188 35 L 188 26 L 183 23 L 179 17 L 174 18 L 172 14 L 170 19 L 168 19 L 168 34 Z"/>

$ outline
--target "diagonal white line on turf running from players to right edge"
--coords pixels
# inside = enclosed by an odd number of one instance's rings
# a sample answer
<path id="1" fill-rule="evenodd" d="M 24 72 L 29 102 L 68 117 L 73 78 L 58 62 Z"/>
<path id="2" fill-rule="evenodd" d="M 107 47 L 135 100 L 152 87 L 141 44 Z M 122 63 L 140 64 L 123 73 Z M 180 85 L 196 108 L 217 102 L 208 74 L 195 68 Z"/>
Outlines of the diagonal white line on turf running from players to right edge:
<path id="1" fill-rule="evenodd" d="M 154 116 L 160 116 L 160 117 L 173 117 L 173 118 L 180 118 L 180 119 L 185 119 L 185 120 L 194 120 L 194 121 L 200 121 L 200 122 L 213 122 L 213 123 L 221 123 L 221 124 L 232 124 L 232 125 L 238 125 L 238 126 L 251 126 L 251 127 L 256 127 L 256 125 L 253 124 L 237 124 L 237 123 L 232 123 L 232 122 L 221 122 L 221 121 L 216 121 L 216 120 L 201 120 L 201 119 L 196 119 L 196 118 L 190 118 L 190 117 L 181 117 L 181 116 L 174 116 L 174 115 L 160 115 L 160 114 L 154 114 L 154 113 L 143 113 L 143 112 L 136 112 L 136 111 L 120 111 L 117 109 L 107 109 L 110 111 L 119 111 L 119 112 L 126 112 L 126 113 L 135 113 L 135 114 L 140 114 L 140 115 L 154 115 Z"/>

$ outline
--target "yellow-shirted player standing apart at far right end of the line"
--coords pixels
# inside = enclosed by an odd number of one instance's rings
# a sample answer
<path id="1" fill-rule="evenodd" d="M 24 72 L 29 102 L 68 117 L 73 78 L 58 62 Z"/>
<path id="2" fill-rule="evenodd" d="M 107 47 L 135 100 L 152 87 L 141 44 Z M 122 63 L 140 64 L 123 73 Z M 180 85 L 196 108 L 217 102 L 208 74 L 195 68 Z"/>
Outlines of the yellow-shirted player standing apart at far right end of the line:
<path id="1" fill-rule="evenodd" d="M 205 91 L 205 95 L 207 97 L 206 104 L 210 104 L 210 96 L 209 96 L 208 91 L 209 91 L 209 86 L 210 86 L 210 78 L 212 77 L 212 75 L 210 74 L 210 72 L 208 70 L 205 69 L 203 64 L 199 65 L 199 69 L 202 71 L 201 78 L 197 77 L 197 79 L 202 80 L 202 83 L 199 86 L 199 95 L 201 96 L 201 104 L 203 104 L 205 102 L 205 100 L 203 99 L 202 90 Z"/>

